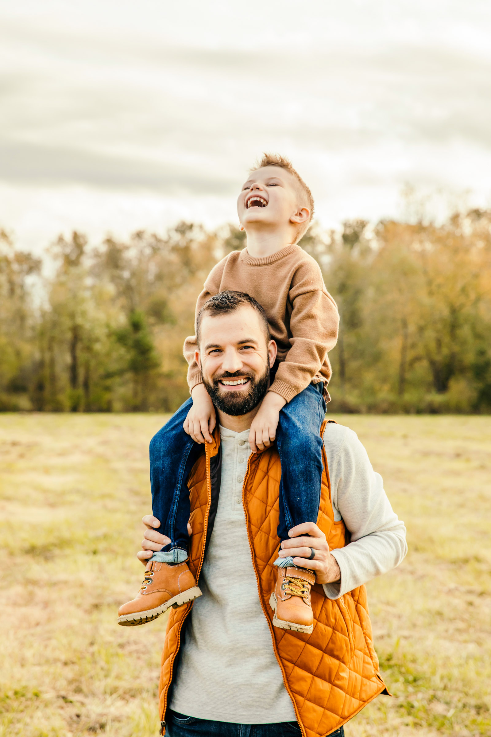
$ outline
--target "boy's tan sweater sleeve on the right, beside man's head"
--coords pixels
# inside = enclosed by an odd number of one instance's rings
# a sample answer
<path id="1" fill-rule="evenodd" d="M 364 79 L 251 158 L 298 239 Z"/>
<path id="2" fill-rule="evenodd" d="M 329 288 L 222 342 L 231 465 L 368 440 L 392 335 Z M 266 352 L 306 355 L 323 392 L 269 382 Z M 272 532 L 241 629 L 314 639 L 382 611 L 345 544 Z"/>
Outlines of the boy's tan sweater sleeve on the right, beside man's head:
<path id="1" fill-rule="evenodd" d="M 297 270 L 289 291 L 292 312 L 289 315 L 291 348 L 278 366 L 275 381 L 269 391 L 280 394 L 290 402 L 326 366 L 328 352 L 336 345 L 339 312 L 336 302 L 325 288 L 319 266 L 313 261 L 303 262 Z"/>

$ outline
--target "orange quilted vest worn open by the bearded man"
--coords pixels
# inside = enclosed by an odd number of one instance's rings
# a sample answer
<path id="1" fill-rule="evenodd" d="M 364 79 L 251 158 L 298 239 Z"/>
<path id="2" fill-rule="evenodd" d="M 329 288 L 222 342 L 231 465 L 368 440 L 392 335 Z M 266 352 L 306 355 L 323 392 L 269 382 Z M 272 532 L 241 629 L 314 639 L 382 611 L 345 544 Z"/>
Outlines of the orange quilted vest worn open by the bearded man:
<path id="1" fill-rule="evenodd" d="M 325 425 L 322 426 L 322 433 Z M 211 537 L 216 499 L 219 493 L 220 436 L 205 443 L 205 455 L 194 464 L 188 478 L 191 498 L 191 550 L 189 567 L 197 582 Z M 317 525 L 325 533 L 329 548 L 346 545 L 345 524 L 335 522 L 331 503 L 331 482 L 323 451 L 324 472 Z M 252 564 L 258 579 L 275 655 L 304 737 L 324 737 L 339 729 L 375 696 L 386 692 L 378 672 L 378 658 L 372 641 L 367 592 L 359 586 L 336 600 L 327 598 L 320 584 L 311 590 L 314 632 L 306 635 L 272 626 L 269 595 L 275 587 L 277 570 L 273 561 L 278 552 L 280 458 L 275 447 L 252 453 L 244 478 L 242 498 L 247 520 Z M 213 511 L 214 506 L 214 511 Z M 171 609 L 160 668 L 160 734 L 166 732 L 166 708 L 174 663 L 180 648 L 183 624 L 192 602 Z"/>

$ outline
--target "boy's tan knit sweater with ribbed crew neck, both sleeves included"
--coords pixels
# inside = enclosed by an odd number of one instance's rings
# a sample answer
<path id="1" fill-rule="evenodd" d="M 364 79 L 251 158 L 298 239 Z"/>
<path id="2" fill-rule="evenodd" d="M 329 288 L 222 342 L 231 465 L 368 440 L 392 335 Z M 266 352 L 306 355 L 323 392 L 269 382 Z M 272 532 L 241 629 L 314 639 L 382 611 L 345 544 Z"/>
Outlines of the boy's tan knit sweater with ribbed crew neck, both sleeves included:
<path id="1" fill-rule="evenodd" d="M 312 380 L 328 383 L 328 351 L 336 345 L 339 314 L 311 256 L 299 245 L 288 245 L 260 259 L 250 256 L 247 249 L 233 251 L 208 274 L 196 314 L 210 297 L 228 289 L 249 294 L 266 310 L 280 361 L 269 391 L 290 402 Z M 194 360 L 196 348 L 196 335 L 186 338 L 184 355 L 191 390 L 202 383 Z"/>

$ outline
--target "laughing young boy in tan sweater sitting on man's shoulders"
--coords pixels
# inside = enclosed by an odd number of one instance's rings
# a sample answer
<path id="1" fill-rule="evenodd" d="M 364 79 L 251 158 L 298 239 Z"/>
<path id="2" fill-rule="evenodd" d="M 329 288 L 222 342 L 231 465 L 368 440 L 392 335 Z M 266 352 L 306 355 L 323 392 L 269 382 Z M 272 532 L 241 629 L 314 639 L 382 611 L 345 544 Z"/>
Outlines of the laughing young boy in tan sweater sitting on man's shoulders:
<path id="1" fill-rule="evenodd" d="M 269 391 L 252 422 L 249 442 L 253 453 L 273 441 L 278 447 L 278 542 L 282 542 L 295 525 L 317 522 L 322 475 L 319 431 L 325 399 L 329 400 L 328 351 L 336 344 L 339 314 L 317 262 L 297 245 L 311 223 L 314 200 L 292 164 L 281 156 L 264 155 L 251 170 L 237 209 L 247 248 L 228 254 L 211 270 L 196 314 L 208 298 L 225 290 L 249 294 L 266 312 L 278 359 Z M 194 360 L 196 349 L 196 336 L 186 338 L 191 399 L 150 444 L 152 513 L 161 523 L 158 532 L 170 542 L 152 556 L 137 597 L 120 607 L 118 621 L 124 626 L 144 624 L 169 607 L 201 595 L 186 565 L 190 509 L 186 478 L 199 455 L 199 444 L 211 442 L 216 419 Z M 292 559 L 278 557 L 275 565 L 292 571 Z M 300 597 L 299 604 L 310 607 L 310 585 L 301 578 L 296 581 L 290 576 L 290 580 L 292 585 L 285 579 L 289 595 Z M 273 624 L 311 632 L 305 612 L 300 612 L 300 619 L 281 621 L 275 616 Z"/>

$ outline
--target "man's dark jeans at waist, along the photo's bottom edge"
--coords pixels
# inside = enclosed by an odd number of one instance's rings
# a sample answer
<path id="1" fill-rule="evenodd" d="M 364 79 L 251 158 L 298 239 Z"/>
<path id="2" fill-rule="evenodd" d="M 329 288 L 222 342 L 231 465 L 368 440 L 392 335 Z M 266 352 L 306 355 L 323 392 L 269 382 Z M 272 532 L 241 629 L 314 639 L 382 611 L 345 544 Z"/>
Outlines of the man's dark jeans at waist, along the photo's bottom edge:
<path id="1" fill-rule="evenodd" d="M 297 722 L 278 722 L 278 724 L 232 724 L 230 722 L 210 722 L 194 716 L 169 713 L 166 736 L 169 737 L 299 737 L 302 733 Z M 345 737 L 345 730 L 331 733 L 330 737 Z"/>

